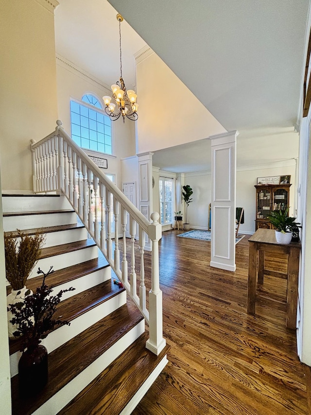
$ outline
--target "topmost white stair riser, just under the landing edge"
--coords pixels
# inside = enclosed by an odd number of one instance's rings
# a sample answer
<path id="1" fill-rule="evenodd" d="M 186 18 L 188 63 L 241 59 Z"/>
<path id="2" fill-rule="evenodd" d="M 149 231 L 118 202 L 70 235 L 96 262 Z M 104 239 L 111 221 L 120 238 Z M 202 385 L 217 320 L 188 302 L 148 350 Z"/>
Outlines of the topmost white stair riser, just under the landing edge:
<path id="1" fill-rule="evenodd" d="M 2 209 L 8 212 L 35 212 L 38 210 L 71 209 L 65 196 L 4 196 Z"/>

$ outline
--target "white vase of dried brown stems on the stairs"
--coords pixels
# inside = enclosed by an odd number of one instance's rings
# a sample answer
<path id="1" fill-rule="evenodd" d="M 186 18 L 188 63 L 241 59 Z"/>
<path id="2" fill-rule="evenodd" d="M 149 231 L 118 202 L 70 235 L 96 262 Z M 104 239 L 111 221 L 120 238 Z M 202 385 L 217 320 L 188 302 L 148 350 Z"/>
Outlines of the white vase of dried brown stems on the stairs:
<path id="1" fill-rule="evenodd" d="M 12 287 L 11 293 L 7 296 L 7 305 L 20 303 L 25 295 L 32 293 L 26 288 L 26 280 L 34 269 L 45 242 L 43 234 L 26 235 L 17 230 L 17 236 L 12 232 L 4 235 L 5 275 Z M 11 319 L 12 315 L 8 312 L 9 337 L 13 339 L 16 327 L 10 323 Z"/>

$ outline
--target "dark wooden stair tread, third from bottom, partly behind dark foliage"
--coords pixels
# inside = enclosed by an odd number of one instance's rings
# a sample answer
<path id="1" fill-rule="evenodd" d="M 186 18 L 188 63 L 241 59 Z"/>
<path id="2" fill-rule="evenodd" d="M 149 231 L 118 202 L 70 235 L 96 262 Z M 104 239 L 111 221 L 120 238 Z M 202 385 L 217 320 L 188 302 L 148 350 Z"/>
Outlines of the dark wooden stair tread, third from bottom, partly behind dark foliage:
<path id="1" fill-rule="evenodd" d="M 73 284 L 74 287 L 74 284 Z M 76 295 L 73 295 L 66 300 L 63 300 L 57 307 L 54 318 L 61 320 L 72 321 L 80 315 L 86 313 L 90 309 L 98 306 L 101 303 L 109 300 L 110 298 L 118 295 L 125 289 L 120 289 L 119 286 L 113 284 L 109 279 L 101 284 L 98 284 L 92 288 L 86 289 Z M 74 291 L 73 291 L 74 292 Z M 55 327 L 55 330 L 59 326 Z M 21 346 L 21 339 L 14 339 L 9 341 L 10 355 L 16 353 Z"/>

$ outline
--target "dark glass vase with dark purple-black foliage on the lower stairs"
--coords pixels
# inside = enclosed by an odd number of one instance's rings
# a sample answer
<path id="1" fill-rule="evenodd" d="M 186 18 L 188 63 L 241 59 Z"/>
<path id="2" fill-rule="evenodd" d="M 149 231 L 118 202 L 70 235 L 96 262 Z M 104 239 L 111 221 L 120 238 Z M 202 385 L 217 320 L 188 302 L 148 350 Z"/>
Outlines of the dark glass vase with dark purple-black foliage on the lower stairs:
<path id="1" fill-rule="evenodd" d="M 41 287 L 35 292 L 26 294 L 23 303 L 11 304 L 8 309 L 13 315 L 12 324 L 17 327 L 13 332 L 15 337 L 21 337 L 23 352 L 18 362 L 19 394 L 22 397 L 34 395 L 41 390 L 48 381 L 48 351 L 41 343 L 49 332 L 57 325 L 69 325 L 68 321 L 53 319 L 57 305 L 62 295 L 74 288 L 61 289 L 58 294 L 51 295 L 52 287 L 46 285 L 46 277 L 52 274 L 52 267 L 47 273 L 38 269 L 38 274 L 43 274 Z"/>

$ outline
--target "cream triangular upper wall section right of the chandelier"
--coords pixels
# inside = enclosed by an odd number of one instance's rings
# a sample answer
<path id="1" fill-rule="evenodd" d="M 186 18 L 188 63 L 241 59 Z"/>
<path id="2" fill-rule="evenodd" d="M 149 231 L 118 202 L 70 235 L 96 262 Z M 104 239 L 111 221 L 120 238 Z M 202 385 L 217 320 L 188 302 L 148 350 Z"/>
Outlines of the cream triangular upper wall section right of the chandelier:
<path id="1" fill-rule="evenodd" d="M 155 53 L 139 56 L 142 57 L 137 58 L 138 153 L 225 132 Z"/>

